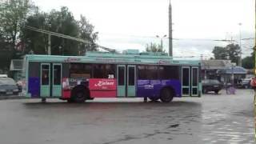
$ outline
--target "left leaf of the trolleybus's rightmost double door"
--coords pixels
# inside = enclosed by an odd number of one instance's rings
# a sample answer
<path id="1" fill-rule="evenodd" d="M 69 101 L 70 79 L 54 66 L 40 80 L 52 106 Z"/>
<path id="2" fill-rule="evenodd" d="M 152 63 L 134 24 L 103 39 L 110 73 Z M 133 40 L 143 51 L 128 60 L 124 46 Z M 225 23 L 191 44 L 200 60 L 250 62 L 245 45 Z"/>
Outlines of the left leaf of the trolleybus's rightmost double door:
<path id="1" fill-rule="evenodd" d="M 182 96 L 190 96 L 190 66 L 182 66 Z"/>

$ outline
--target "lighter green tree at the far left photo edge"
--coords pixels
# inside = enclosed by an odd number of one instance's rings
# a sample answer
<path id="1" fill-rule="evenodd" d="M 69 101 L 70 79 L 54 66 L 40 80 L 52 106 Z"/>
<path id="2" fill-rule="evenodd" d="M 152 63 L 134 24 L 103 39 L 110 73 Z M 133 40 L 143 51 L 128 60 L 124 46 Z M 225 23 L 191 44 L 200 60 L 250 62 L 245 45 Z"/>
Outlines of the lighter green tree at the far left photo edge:
<path id="1" fill-rule="evenodd" d="M 0 73 L 10 67 L 10 59 L 17 57 L 21 27 L 34 6 L 30 0 L 0 1 Z"/>

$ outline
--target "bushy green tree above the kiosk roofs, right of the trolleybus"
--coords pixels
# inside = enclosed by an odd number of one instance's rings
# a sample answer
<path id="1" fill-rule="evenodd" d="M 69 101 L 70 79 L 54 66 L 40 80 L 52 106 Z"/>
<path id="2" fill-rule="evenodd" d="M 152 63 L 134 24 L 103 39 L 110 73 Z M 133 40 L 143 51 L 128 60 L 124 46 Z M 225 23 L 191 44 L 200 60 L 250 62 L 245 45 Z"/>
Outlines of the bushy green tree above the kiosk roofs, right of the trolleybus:
<path id="1" fill-rule="evenodd" d="M 215 46 L 212 51 L 215 59 L 230 59 L 231 62 L 238 64 L 239 54 L 241 54 L 240 46 L 234 43 L 225 47 Z"/>

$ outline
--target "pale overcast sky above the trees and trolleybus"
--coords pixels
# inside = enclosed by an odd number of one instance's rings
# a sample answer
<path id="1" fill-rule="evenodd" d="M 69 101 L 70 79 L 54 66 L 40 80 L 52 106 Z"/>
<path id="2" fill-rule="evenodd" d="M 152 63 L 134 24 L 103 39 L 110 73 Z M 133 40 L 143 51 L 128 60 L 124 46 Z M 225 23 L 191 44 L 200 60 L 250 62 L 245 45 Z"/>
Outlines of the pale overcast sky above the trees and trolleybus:
<path id="1" fill-rule="evenodd" d="M 99 32 L 98 43 L 117 50 L 145 50 L 146 43 L 159 42 L 155 35 L 168 34 L 169 0 L 33 0 L 49 12 L 67 6 L 76 19 L 80 14 Z M 214 46 L 226 42 L 209 39 L 254 37 L 253 0 L 171 0 L 173 8 L 174 56 L 209 58 Z M 238 23 L 242 26 L 239 27 Z M 195 40 L 195 39 L 206 40 Z M 243 57 L 250 54 L 253 40 L 242 41 Z M 164 39 L 168 50 L 168 39 Z"/>

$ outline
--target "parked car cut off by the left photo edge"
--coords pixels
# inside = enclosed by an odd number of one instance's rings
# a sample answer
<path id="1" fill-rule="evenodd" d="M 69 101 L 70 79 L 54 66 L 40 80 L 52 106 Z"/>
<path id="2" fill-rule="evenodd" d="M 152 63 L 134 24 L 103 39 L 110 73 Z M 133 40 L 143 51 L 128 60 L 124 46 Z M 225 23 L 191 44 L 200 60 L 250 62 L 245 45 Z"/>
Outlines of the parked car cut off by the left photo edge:
<path id="1" fill-rule="evenodd" d="M 0 78 L 0 95 L 18 95 L 18 86 L 12 78 Z"/>

